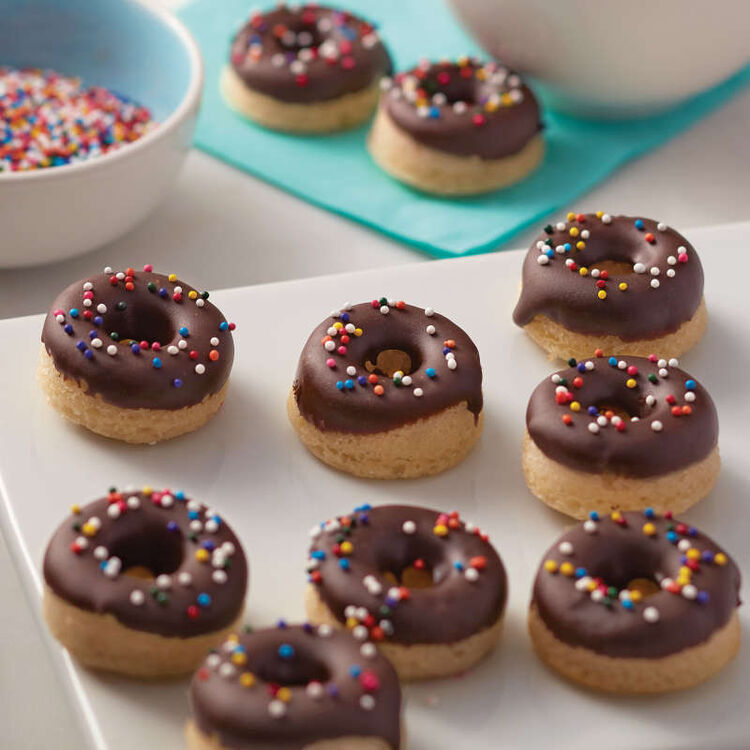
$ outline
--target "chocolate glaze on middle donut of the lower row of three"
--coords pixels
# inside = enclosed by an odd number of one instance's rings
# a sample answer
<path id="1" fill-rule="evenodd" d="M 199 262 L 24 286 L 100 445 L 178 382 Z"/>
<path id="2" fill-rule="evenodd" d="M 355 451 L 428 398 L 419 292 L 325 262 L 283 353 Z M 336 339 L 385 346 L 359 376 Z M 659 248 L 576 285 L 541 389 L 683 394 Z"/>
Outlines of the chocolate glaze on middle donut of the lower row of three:
<path id="1" fill-rule="evenodd" d="M 407 522 L 414 524 L 411 533 L 404 530 Z M 448 527 L 446 535 L 436 533 L 439 525 Z M 351 542 L 351 553 L 340 552 L 343 541 Z M 433 585 L 401 596 L 401 576 L 416 560 L 431 571 Z M 308 572 L 339 620 L 351 625 L 354 618 L 370 629 L 371 637 L 398 644 L 468 638 L 497 622 L 508 593 L 502 560 L 485 535 L 457 514 L 410 505 L 362 506 L 321 524 L 310 547 Z M 399 584 L 389 582 L 386 572 Z"/>

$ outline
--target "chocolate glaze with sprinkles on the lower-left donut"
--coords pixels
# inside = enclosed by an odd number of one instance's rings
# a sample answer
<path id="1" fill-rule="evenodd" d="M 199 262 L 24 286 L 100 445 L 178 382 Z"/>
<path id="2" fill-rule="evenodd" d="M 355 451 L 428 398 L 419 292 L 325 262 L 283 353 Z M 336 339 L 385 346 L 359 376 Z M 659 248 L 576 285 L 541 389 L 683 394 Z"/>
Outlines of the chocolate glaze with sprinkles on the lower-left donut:
<path id="1" fill-rule="evenodd" d="M 214 514 L 181 492 L 113 491 L 58 527 L 44 555 L 44 580 L 70 604 L 134 630 L 178 638 L 218 630 L 242 612 L 248 572 L 239 540 Z M 89 535 L 92 518 L 101 526 Z M 201 549 L 205 562 L 196 557 Z M 155 581 L 125 574 L 138 566 Z M 131 601 L 133 591 L 143 593 L 142 603 Z"/>

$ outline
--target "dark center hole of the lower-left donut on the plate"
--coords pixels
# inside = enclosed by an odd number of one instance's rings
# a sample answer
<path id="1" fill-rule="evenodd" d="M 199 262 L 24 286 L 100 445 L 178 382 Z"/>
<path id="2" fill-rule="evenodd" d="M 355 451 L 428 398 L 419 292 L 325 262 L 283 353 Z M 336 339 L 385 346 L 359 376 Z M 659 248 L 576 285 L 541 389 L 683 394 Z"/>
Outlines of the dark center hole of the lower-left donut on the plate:
<path id="1" fill-rule="evenodd" d="M 149 580 L 174 573 L 183 559 L 183 539 L 166 524 L 150 523 L 109 544 L 110 557 L 119 557 L 124 575 Z"/>

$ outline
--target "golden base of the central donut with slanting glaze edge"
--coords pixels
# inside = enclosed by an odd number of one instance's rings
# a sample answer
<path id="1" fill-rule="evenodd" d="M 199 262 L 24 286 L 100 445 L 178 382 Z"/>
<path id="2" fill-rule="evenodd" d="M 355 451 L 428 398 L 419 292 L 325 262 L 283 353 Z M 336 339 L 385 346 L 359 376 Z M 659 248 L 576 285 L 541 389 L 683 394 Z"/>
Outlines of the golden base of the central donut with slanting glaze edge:
<path id="1" fill-rule="evenodd" d="M 412 479 L 438 474 L 463 461 L 482 434 L 483 412 L 467 402 L 411 424 L 374 434 L 319 430 L 300 413 L 294 392 L 287 413 L 300 440 L 323 463 L 368 479 Z"/>

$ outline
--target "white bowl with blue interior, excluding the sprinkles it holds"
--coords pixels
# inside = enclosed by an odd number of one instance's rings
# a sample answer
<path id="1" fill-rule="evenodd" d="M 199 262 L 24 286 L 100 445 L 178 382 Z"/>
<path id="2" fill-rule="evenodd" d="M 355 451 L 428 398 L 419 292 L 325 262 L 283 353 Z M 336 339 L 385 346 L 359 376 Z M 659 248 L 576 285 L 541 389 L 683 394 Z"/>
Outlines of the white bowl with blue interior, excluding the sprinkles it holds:
<path id="1" fill-rule="evenodd" d="M 140 0 L 15 0 L 3 16 L 0 64 L 80 76 L 159 123 L 87 162 L 0 173 L 0 268 L 14 268 L 93 250 L 159 204 L 190 149 L 203 63 L 182 23 Z"/>

